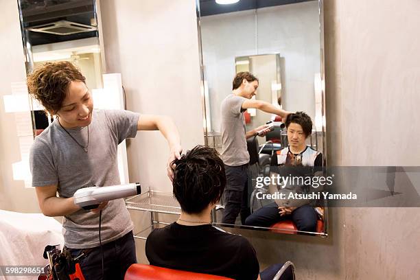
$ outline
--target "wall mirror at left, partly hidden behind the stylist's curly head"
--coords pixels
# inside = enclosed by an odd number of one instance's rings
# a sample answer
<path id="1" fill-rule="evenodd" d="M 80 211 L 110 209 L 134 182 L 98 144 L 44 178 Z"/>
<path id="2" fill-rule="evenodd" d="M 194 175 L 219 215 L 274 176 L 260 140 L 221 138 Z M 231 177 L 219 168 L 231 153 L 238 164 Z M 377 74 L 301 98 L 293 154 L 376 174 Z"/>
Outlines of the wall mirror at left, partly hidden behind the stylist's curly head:
<path id="1" fill-rule="evenodd" d="M 71 61 L 86 77 L 92 91 L 102 89 L 102 56 L 95 0 L 18 0 L 26 71 L 45 62 Z M 51 124 L 32 100 L 34 136 Z"/>

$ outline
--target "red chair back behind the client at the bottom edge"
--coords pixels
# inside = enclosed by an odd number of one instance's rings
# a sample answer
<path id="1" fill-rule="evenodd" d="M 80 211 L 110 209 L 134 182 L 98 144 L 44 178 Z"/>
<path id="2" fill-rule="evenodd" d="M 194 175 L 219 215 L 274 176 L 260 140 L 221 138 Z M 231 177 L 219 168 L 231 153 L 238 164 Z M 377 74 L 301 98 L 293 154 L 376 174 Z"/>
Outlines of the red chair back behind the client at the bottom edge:
<path id="1" fill-rule="evenodd" d="M 206 275 L 202 273 L 189 272 L 183 270 L 174 270 L 170 268 L 161 268 L 159 266 L 150 266 L 148 264 L 132 264 L 127 272 L 124 280 L 232 280 L 216 275 Z"/>

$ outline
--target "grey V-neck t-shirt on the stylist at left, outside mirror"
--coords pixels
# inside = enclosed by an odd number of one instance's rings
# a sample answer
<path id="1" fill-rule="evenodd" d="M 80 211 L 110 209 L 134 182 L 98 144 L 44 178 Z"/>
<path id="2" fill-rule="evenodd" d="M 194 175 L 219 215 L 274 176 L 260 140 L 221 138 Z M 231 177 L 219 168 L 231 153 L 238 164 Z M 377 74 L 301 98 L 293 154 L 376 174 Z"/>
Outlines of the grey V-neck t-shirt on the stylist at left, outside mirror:
<path id="1" fill-rule="evenodd" d="M 117 145 L 135 137 L 139 114 L 126 110 L 93 110 L 89 125 L 88 152 L 77 144 L 55 120 L 35 138 L 30 152 L 32 186 L 57 185 L 61 198 L 73 196 L 81 187 L 120 184 Z M 86 145 L 88 129 L 67 131 Z M 133 224 L 124 200 L 108 202 L 102 210 L 102 244 L 117 240 L 132 231 Z M 100 246 L 99 213 L 80 209 L 63 219 L 62 233 L 69 248 Z"/>

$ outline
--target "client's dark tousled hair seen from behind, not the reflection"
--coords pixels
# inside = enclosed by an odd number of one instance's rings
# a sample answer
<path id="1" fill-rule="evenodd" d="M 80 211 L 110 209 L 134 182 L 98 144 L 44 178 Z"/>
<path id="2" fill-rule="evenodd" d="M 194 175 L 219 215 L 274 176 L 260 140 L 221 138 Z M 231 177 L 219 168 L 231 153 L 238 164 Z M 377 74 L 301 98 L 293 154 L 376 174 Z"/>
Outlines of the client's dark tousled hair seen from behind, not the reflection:
<path id="1" fill-rule="evenodd" d="M 197 145 L 174 167 L 174 195 L 186 213 L 200 213 L 222 197 L 226 185 L 224 164 L 213 148 Z"/>

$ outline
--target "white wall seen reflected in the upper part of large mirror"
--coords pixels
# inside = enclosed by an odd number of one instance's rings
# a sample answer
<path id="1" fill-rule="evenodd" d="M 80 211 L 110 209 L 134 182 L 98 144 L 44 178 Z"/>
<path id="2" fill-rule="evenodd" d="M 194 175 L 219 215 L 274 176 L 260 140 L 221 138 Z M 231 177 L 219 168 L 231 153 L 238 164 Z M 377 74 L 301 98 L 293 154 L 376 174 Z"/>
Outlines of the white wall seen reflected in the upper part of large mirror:
<path id="1" fill-rule="evenodd" d="M 314 74 L 320 72 L 318 1 L 203 16 L 200 19 L 211 124 L 220 130 L 220 102 L 231 93 L 235 57 L 284 58 L 283 108 L 314 119 Z M 257 91 L 261 92 L 261 89 Z"/>

